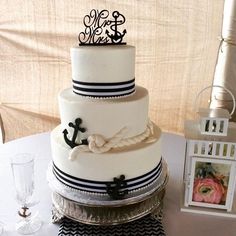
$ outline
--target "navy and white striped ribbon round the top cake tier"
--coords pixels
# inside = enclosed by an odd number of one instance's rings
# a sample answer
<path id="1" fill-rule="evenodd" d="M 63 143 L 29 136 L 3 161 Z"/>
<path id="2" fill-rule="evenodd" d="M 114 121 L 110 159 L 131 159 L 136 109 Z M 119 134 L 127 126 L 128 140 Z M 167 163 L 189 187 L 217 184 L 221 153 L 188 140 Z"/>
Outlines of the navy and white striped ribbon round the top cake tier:
<path id="1" fill-rule="evenodd" d="M 90 83 L 72 80 L 73 92 L 90 97 L 120 97 L 135 92 L 135 79 L 116 83 Z"/>

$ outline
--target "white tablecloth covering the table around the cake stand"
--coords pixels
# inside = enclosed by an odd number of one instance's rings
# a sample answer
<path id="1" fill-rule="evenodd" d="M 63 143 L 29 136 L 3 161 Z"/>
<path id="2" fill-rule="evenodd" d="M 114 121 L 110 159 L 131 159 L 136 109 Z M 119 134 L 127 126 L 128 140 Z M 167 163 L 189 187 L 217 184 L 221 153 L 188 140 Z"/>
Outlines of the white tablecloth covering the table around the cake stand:
<path id="1" fill-rule="evenodd" d="M 167 236 L 235 236 L 235 219 L 180 212 L 184 150 L 183 137 L 164 133 L 162 153 L 170 171 L 163 219 Z M 3 236 L 18 235 L 14 230 L 18 205 L 14 199 L 9 159 L 19 152 L 36 154 L 35 198 L 40 202 L 32 210 L 39 210 L 43 227 L 35 235 L 56 236 L 58 225 L 50 223 L 51 191 L 46 180 L 46 170 L 51 160 L 49 133 L 25 137 L 0 146 L 0 221 L 5 224 Z"/>

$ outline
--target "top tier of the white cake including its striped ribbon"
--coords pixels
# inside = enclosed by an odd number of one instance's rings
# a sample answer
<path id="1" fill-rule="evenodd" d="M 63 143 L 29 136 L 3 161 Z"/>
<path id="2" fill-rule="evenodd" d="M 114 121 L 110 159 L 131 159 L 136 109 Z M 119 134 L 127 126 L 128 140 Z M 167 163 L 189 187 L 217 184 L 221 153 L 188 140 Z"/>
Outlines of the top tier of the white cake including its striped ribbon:
<path id="1" fill-rule="evenodd" d="M 91 97 L 119 97 L 135 92 L 135 47 L 71 48 L 73 91 Z"/>

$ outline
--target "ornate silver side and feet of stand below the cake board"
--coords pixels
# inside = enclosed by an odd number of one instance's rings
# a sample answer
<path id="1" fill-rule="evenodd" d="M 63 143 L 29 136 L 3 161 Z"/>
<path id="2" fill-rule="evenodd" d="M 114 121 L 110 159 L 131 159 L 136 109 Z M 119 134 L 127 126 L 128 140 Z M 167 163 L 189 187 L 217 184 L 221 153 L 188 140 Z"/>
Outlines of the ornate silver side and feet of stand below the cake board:
<path id="1" fill-rule="evenodd" d="M 52 193 L 52 222 L 58 223 L 63 217 L 93 225 L 116 225 L 139 219 L 147 214 L 160 219 L 162 215 L 165 188 L 155 191 L 145 200 L 115 206 L 89 206 L 66 199 L 56 192 Z"/>

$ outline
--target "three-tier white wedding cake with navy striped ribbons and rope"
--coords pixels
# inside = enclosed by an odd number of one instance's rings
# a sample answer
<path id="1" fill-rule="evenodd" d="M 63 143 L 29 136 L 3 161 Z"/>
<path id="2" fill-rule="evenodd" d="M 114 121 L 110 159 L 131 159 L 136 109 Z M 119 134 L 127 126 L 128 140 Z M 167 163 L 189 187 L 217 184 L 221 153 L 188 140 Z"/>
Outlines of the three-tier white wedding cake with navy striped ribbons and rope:
<path id="1" fill-rule="evenodd" d="M 71 59 L 73 88 L 59 94 L 51 134 L 55 177 L 93 194 L 117 179 L 127 192 L 158 180 L 161 130 L 148 119 L 148 91 L 134 84 L 135 48 L 80 46 Z"/>

